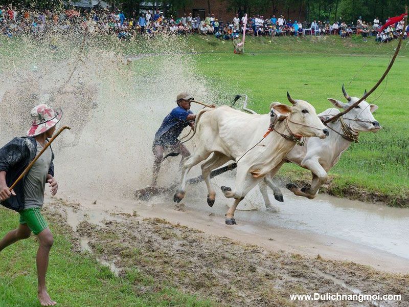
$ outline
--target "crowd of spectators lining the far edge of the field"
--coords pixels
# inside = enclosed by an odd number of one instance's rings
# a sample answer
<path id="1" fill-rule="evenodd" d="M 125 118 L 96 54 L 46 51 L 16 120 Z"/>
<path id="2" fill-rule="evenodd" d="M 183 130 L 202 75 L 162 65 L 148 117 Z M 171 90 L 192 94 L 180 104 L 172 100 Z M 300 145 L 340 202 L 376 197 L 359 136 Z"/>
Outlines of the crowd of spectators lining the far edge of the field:
<path id="1" fill-rule="evenodd" d="M 129 39 L 136 35 L 153 37 L 158 33 L 201 34 L 214 35 L 216 38 L 234 40 L 244 30 L 250 36 L 304 36 L 304 35 L 339 35 L 342 38 L 360 35 L 364 41 L 368 37 L 375 37 L 378 42 L 388 42 L 399 36 L 404 23 L 395 25 L 378 32 L 381 22 L 378 17 L 372 22 L 359 17 L 354 24 L 347 24 L 341 18 L 330 24 L 329 21 L 313 20 L 311 24 L 305 21 L 286 19 L 283 15 L 264 17 L 253 15 L 247 18 L 238 14 L 233 20 L 219 20 L 214 14 L 206 18 L 199 15 L 184 14 L 179 18 L 165 16 L 163 12 L 155 10 L 141 13 L 138 17 L 128 18 L 122 11 L 85 10 L 80 12 L 75 8 L 59 12 L 32 9 L 20 9 L 15 6 L 0 6 L 0 30 L 8 37 L 21 33 L 41 36 L 49 31 L 64 31 L 69 29 L 83 29 L 91 34 L 100 33 L 115 35 L 119 39 Z M 404 29 L 404 38 L 409 32 L 409 26 Z"/>

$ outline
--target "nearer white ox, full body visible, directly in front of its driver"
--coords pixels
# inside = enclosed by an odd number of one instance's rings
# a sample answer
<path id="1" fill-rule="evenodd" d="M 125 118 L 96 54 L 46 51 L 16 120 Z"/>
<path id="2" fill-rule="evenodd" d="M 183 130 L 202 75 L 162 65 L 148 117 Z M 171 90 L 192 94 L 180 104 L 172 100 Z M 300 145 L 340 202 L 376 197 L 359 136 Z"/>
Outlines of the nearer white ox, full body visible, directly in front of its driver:
<path id="1" fill-rule="evenodd" d="M 296 144 L 287 139 L 289 136 L 325 138 L 328 135 L 327 128 L 312 105 L 303 100 L 293 100 L 288 93 L 287 97 L 292 106 L 274 105 L 274 111 L 279 113 L 275 116 L 250 115 L 229 106 L 200 111 L 195 123 L 197 146 L 183 162 L 181 184 L 173 200 L 180 202 L 184 198 L 189 170 L 213 153 L 201 165 L 202 176 L 208 188 L 208 204 L 213 206 L 216 193 L 210 184 L 210 172 L 229 160 L 235 160 L 238 165 L 235 190 L 224 186 L 221 189 L 226 198 L 235 199 L 226 213 L 225 222 L 228 225 L 236 224 L 234 212 L 237 205 L 267 174 L 280 166 Z M 263 138 L 273 122 L 274 131 Z"/>

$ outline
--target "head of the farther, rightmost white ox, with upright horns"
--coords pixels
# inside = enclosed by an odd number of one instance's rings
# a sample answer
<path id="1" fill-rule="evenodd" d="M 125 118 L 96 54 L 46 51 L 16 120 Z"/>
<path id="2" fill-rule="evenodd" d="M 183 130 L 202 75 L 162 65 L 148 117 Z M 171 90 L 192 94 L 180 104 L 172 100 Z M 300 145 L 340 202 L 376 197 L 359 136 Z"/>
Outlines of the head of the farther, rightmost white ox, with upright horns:
<path id="1" fill-rule="evenodd" d="M 339 109 L 347 109 L 352 104 L 357 102 L 359 98 L 351 97 L 348 95 L 347 91 L 345 91 L 344 85 L 342 86 L 342 91 L 344 93 L 344 97 L 347 99 L 347 103 L 343 103 L 342 101 L 335 100 L 332 98 L 328 98 L 328 100 L 337 108 Z M 366 95 L 367 91 L 363 93 Z M 350 128 L 355 132 L 378 132 L 382 127 L 379 125 L 379 122 L 374 118 L 372 115 L 373 112 L 376 111 L 378 106 L 376 104 L 369 104 L 365 100 L 359 102 L 357 106 L 355 106 L 351 111 L 344 115 L 344 119 L 347 121 L 349 120 L 348 124 Z"/>

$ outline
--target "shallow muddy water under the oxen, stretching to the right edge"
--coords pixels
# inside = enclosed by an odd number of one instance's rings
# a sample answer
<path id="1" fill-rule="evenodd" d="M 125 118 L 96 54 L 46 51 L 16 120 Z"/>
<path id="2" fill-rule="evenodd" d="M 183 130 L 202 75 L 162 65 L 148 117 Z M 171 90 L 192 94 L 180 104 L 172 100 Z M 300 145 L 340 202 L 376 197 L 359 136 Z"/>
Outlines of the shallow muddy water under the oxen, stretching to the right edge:
<path id="1" fill-rule="evenodd" d="M 275 201 L 272 193 L 270 194 L 270 199 L 278 212 L 266 211 L 258 189 L 251 191 L 242 209 L 250 207 L 258 210 L 236 211 L 238 223 L 245 224 L 246 227 L 258 225 L 306 231 L 347 240 L 409 259 L 408 208 L 392 208 L 323 194 L 314 200 L 308 200 L 293 195 L 285 187 L 281 187 L 281 191 L 284 193 L 284 203 Z M 203 192 L 200 193 L 203 200 L 201 204 L 190 201 L 197 194 L 199 193 L 189 196 L 186 200 L 188 206 L 196 210 L 223 216 L 226 211 L 225 205 L 232 203 L 218 193 L 216 204 L 210 208 L 206 206 Z"/>

